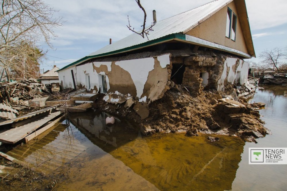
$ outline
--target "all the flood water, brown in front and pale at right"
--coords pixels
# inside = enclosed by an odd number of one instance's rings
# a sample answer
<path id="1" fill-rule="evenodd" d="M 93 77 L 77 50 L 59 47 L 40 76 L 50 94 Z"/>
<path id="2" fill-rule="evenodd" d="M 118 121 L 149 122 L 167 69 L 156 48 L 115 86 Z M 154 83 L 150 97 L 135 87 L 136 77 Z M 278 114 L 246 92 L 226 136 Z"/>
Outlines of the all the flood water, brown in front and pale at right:
<path id="1" fill-rule="evenodd" d="M 257 144 L 224 135 L 213 143 L 208 135 L 142 137 L 125 119 L 106 126 L 105 113 L 87 112 L 7 154 L 56 179 L 54 190 L 286 190 L 287 165 L 248 164 L 249 147 L 287 147 L 287 88 L 263 87 L 249 101 L 266 103 L 259 112 L 273 134 Z"/>

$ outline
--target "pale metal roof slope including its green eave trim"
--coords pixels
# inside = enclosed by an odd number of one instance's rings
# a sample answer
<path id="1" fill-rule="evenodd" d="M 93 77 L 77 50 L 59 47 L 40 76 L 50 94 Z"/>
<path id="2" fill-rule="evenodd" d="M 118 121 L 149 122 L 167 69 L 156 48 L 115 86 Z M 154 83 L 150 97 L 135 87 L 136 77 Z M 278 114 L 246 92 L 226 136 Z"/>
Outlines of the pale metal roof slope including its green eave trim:
<path id="1" fill-rule="evenodd" d="M 126 38 L 97 50 L 96 52 L 92 52 L 88 56 L 61 68 L 58 71 L 74 66 L 75 64 L 83 63 L 91 58 L 127 52 L 173 39 L 185 41 L 185 32 L 196 27 L 232 1 L 233 0 L 211 1 L 189 11 L 158 21 L 152 27 L 153 31 L 149 32 L 148 38 L 146 36 L 145 38 L 142 38 L 140 35 L 133 33 Z"/>

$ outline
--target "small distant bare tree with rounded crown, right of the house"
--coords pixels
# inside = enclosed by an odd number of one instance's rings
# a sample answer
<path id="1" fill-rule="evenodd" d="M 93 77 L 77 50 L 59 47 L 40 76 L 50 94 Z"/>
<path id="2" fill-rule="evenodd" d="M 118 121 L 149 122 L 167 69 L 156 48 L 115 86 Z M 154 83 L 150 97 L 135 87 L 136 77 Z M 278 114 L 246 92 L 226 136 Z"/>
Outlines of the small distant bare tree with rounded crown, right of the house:
<path id="1" fill-rule="evenodd" d="M 271 50 L 265 50 L 261 52 L 260 58 L 262 59 L 262 64 L 268 66 L 274 71 L 278 71 L 280 65 L 284 64 L 284 54 L 283 50 L 280 48 L 274 48 Z"/>

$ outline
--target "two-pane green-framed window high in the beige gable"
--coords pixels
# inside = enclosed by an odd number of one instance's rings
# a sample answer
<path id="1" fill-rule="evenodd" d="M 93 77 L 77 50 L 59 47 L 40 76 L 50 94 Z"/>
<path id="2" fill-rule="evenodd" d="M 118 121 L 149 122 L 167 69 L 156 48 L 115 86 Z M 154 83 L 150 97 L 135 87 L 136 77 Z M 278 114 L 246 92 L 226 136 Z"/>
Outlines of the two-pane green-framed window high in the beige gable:
<path id="1" fill-rule="evenodd" d="M 226 34 L 227 38 L 231 38 L 231 40 L 235 41 L 236 36 L 236 23 L 237 16 L 232 13 L 230 8 L 227 8 L 227 19 L 226 19 Z"/>

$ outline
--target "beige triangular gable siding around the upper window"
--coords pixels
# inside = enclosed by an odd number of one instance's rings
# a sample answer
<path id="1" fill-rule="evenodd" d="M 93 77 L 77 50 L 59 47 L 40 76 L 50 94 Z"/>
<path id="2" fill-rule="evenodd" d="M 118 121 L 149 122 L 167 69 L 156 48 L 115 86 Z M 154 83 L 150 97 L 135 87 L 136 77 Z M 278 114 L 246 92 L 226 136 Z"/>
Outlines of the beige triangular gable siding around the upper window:
<path id="1" fill-rule="evenodd" d="M 226 34 L 226 14 L 227 8 L 230 8 L 233 13 L 237 16 L 236 24 L 236 39 L 235 42 L 225 36 Z M 223 46 L 239 50 L 241 52 L 249 54 L 245 40 L 243 37 L 242 29 L 240 26 L 239 17 L 235 7 L 234 1 L 219 10 L 217 13 L 212 15 L 207 20 L 203 21 L 201 24 L 195 28 L 188 31 L 186 34 L 208 40 Z"/>

